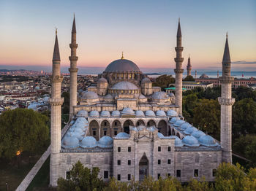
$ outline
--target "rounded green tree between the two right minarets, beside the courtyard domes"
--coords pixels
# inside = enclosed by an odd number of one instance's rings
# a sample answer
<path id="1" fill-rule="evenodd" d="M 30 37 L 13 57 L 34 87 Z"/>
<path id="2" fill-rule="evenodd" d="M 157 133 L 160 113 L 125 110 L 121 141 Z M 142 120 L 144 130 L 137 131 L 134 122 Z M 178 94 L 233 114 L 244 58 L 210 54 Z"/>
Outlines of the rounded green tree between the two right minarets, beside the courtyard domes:
<path id="1" fill-rule="evenodd" d="M 200 100 L 194 109 L 194 125 L 219 139 L 220 106 L 217 100 Z"/>

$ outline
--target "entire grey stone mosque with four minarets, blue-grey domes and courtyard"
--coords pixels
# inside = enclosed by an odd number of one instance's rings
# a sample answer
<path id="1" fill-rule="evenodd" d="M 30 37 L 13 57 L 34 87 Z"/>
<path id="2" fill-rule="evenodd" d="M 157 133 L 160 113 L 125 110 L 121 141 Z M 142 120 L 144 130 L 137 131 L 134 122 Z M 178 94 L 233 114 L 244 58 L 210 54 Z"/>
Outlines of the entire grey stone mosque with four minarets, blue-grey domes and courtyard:
<path id="1" fill-rule="evenodd" d="M 108 64 L 98 75 L 97 86 L 77 90 L 75 17 L 72 25 L 70 61 L 70 111 L 67 132 L 61 137 L 61 82 L 59 44 L 53 50 L 51 106 L 50 185 L 69 179 L 72 165 L 80 160 L 99 167 L 99 177 L 108 181 L 143 180 L 145 176 L 174 176 L 214 181 L 217 167 L 232 162 L 230 53 L 228 42 L 222 60 L 221 141 L 186 122 L 182 116 L 181 25 L 177 31 L 176 95 L 152 87 L 151 80 L 132 61 L 124 58 Z M 190 68 L 190 67 L 189 67 Z"/>

